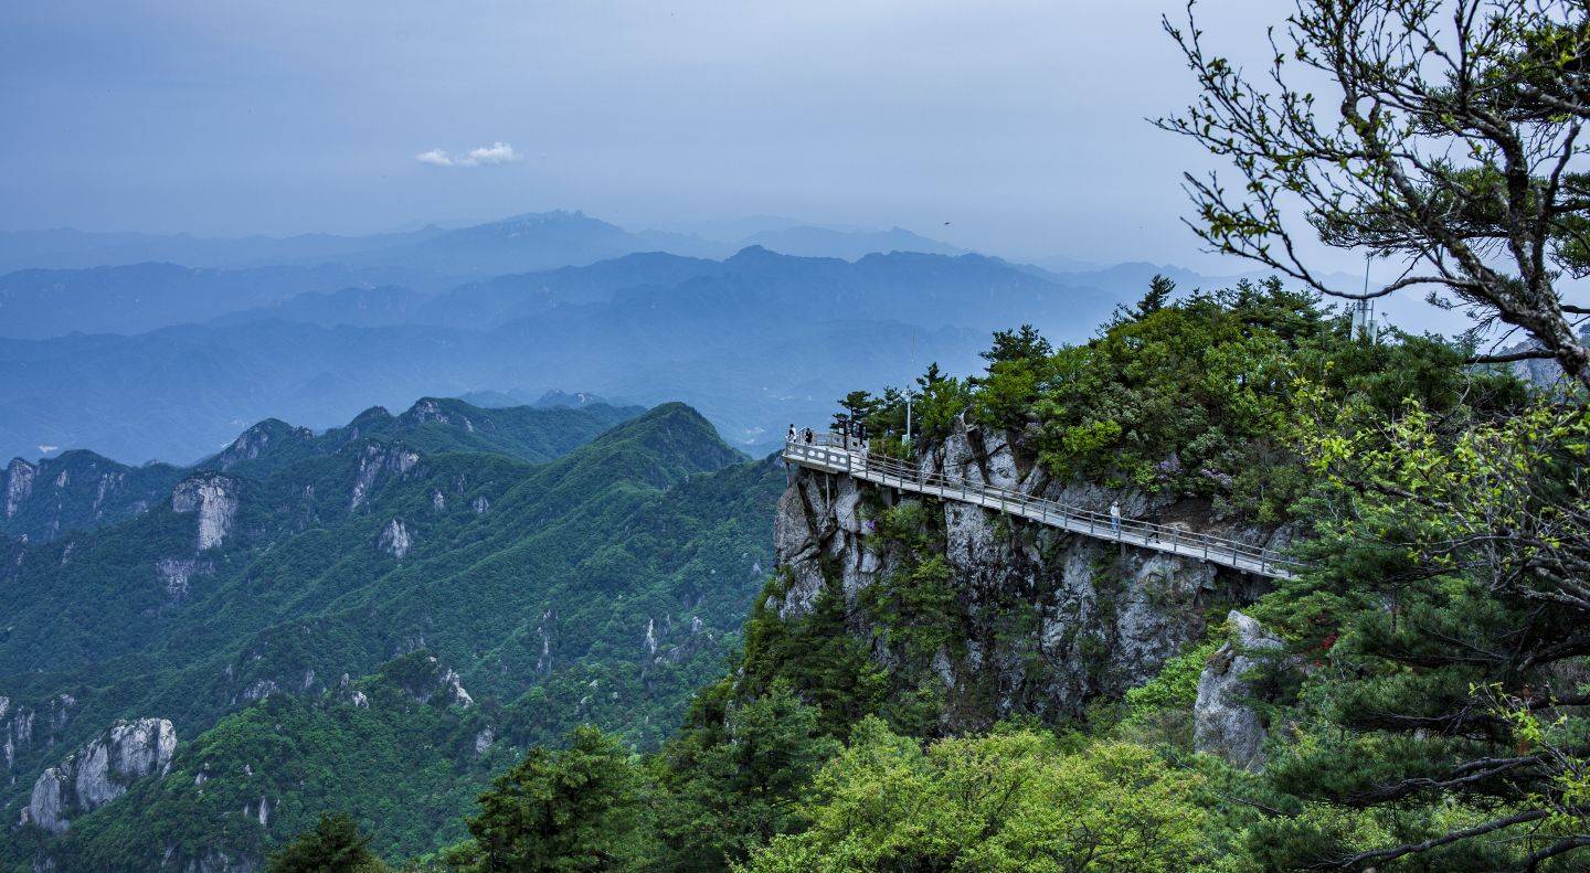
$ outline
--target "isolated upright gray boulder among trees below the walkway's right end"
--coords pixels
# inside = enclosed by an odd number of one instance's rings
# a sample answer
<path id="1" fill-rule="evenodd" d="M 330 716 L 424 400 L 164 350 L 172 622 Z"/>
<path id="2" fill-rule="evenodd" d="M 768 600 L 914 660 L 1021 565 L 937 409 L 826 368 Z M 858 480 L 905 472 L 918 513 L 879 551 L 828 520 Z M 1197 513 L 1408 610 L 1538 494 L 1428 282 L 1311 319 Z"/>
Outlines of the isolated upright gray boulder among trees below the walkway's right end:
<path id="1" fill-rule="evenodd" d="M 1266 663 L 1282 641 L 1258 622 L 1237 612 L 1226 617 L 1232 638 L 1208 660 L 1197 681 L 1192 704 L 1192 746 L 1226 759 L 1234 766 L 1264 766 L 1264 722 L 1251 706 L 1255 696 L 1248 674 Z"/>

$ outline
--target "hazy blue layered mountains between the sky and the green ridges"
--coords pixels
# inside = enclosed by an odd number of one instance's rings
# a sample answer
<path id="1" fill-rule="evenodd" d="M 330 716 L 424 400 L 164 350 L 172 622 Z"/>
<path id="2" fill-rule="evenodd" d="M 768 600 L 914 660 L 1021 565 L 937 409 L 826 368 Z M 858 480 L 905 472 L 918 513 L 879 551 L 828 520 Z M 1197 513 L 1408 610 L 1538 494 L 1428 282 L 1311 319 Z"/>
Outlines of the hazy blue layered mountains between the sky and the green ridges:
<path id="1" fill-rule="evenodd" d="M 760 450 L 855 385 L 973 369 L 991 331 L 1084 339 L 1172 272 L 1053 272 L 898 227 L 631 232 L 568 211 L 372 237 L 0 234 L 13 267 L 0 456 L 124 463 L 191 463 L 261 418 L 549 390 L 682 399 Z"/>

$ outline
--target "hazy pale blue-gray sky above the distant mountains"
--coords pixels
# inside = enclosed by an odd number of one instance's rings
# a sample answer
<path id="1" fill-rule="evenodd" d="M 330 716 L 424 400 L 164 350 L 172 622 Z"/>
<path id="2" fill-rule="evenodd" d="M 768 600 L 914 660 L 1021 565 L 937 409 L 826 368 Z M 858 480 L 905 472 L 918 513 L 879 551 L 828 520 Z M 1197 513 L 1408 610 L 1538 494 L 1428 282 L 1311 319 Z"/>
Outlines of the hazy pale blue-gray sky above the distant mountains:
<path id="1" fill-rule="evenodd" d="M 1180 6 L 10 0 L 0 227 L 776 213 L 1208 266 L 1177 223 L 1205 159 L 1143 121 L 1191 94 Z M 1280 13 L 1205 14 L 1242 45 Z"/>

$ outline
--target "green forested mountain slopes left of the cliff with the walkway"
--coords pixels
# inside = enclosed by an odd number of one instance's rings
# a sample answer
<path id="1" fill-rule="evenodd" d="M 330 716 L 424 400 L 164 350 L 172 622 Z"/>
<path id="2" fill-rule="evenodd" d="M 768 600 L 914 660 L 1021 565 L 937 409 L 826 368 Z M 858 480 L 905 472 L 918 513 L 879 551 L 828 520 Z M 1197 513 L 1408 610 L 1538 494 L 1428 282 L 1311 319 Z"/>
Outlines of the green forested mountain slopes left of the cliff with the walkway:
<path id="1" fill-rule="evenodd" d="M 75 703 L 54 746 L 19 747 L 10 821 L 41 766 L 116 717 L 175 722 L 173 776 L 73 816 L 48 849 L 65 862 L 259 860 L 329 808 L 382 854 L 418 854 L 466 833 L 463 813 L 515 749 L 584 720 L 660 741 L 722 669 L 762 584 L 781 466 L 746 461 L 681 404 L 545 464 L 510 456 L 529 450 L 514 431 L 523 410 L 425 412 L 452 421 L 398 431 L 367 413 L 334 450 L 275 440 L 202 474 L 237 501 L 215 549 L 196 552 L 199 514 L 170 499 L 56 542 L 11 541 L 0 689 L 21 706 Z M 633 410 L 549 413 L 537 439 L 555 452 Z M 388 429 L 367 436 L 370 420 Z M 480 450 L 487 421 L 514 442 Z M 401 560 L 383 549 L 394 522 L 410 541 Z M 180 588 L 162 558 L 194 565 Z M 41 841 L 13 830 L 0 857 L 25 867 Z"/>

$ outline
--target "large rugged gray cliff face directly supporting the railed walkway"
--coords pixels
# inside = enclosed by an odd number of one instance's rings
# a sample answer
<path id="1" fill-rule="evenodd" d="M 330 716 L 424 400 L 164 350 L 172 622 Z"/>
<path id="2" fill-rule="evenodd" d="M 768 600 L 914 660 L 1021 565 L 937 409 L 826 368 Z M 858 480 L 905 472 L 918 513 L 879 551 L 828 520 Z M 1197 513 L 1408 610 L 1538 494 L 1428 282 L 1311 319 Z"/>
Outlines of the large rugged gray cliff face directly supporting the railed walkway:
<path id="1" fill-rule="evenodd" d="M 951 480 L 1099 509 L 1118 499 L 1129 517 L 1169 510 L 1165 501 L 1135 491 L 1049 482 L 1006 434 L 965 425 L 927 458 L 932 472 Z M 793 469 L 774 518 L 787 588 L 766 606 L 793 620 L 811 614 L 825 590 L 833 592 L 844 598 L 851 633 L 870 641 L 874 663 L 900 668 L 902 654 L 868 612 L 863 593 L 900 580 L 921 561 L 884 534 L 882 514 L 911 499 L 917 498 L 847 475 Z M 1118 696 L 1148 681 L 1204 638 L 1212 606 L 1248 603 L 1264 585 L 1194 558 L 1123 547 L 976 506 L 924 499 L 922 507 L 921 533 L 948 565 L 956 598 L 957 644 L 930 663 L 948 730 L 976 730 L 1014 714 L 1076 716 L 1096 696 Z M 1277 542 L 1274 534 L 1205 518 L 1189 518 L 1188 526 Z"/>

